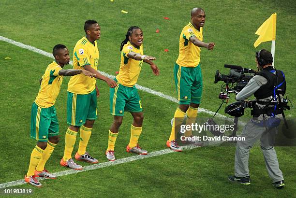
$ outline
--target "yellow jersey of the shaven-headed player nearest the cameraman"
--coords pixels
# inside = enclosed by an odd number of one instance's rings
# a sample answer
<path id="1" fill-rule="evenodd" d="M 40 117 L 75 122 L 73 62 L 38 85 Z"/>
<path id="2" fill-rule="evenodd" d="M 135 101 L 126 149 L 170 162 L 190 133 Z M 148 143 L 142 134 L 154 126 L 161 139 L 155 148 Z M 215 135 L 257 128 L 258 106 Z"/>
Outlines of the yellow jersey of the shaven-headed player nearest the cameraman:
<path id="1" fill-rule="evenodd" d="M 200 62 L 200 47 L 197 47 L 189 38 L 196 36 L 200 41 L 203 41 L 203 28 L 200 31 L 195 29 L 189 22 L 180 34 L 179 40 L 179 57 L 176 63 L 182 67 L 196 67 Z"/>

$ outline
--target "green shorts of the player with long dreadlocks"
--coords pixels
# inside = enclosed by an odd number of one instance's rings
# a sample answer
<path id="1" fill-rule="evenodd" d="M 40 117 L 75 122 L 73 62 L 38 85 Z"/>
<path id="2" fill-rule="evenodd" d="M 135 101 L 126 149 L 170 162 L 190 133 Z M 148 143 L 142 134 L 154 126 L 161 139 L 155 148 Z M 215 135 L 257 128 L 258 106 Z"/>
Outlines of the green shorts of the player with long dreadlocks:
<path id="1" fill-rule="evenodd" d="M 117 87 L 110 88 L 110 113 L 123 116 L 124 112 L 142 112 L 141 99 L 135 86 L 118 83 Z"/>

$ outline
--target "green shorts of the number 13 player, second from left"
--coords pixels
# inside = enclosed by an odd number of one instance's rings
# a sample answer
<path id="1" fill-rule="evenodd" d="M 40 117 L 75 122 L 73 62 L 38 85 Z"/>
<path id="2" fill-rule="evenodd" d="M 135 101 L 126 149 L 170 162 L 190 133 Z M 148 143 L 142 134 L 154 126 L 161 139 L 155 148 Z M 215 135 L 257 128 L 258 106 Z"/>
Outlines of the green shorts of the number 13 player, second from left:
<path id="1" fill-rule="evenodd" d="M 74 94 L 68 91 L 67 124 L 80 127 L 86 120 L 97 119 L 97 92 Z"/>

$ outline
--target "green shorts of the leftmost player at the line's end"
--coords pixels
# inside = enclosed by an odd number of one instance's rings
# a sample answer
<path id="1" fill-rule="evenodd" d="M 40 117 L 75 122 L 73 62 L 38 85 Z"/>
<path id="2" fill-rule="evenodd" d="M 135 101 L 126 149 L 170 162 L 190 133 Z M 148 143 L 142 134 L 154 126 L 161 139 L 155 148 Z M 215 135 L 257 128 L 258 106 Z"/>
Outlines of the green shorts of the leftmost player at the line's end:
<path id="1" fill-rule="evenodd" d="M 31 109 L 31 135 L 36 141 L 48 141 L 48 137 L 59 135 L 56 108 L 39 107 L 35 102 Z"/>

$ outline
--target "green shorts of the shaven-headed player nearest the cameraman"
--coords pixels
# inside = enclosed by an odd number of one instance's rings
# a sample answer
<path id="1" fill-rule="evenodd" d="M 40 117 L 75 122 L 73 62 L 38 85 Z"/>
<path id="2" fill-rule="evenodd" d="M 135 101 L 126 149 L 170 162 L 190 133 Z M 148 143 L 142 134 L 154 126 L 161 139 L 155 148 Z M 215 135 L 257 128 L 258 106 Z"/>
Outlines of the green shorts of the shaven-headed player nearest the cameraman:
<path id="1" fill-rule="evenodd" d="M 200 104 L 203 92 L 200 64 L 190 68 L 175 63 L 174 76 L 179 104 Z"/>

